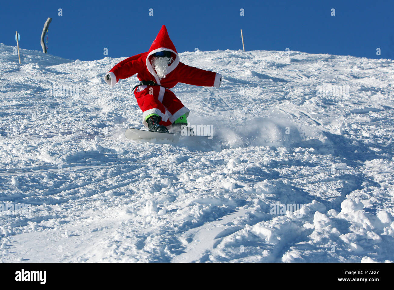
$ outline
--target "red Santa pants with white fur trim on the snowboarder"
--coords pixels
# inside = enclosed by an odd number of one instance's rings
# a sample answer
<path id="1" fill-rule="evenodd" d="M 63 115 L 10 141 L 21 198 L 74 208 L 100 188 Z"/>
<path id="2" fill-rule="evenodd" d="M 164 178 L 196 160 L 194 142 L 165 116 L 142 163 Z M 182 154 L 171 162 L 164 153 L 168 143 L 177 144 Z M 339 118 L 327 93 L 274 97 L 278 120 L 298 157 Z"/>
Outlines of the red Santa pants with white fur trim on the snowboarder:
<path id="1" fill-rule="evenodd" d="M 134 90 L 138 106 L 141 108 L 142 123 L 148 127 L 145 117 L 157 114 L 162 117 L 161 125 L 169 126 L 180 116 L 189 115 L 190 110 L 186 108 L 177 96 L 169 89 L 162 86 L 138 86 Z"/>

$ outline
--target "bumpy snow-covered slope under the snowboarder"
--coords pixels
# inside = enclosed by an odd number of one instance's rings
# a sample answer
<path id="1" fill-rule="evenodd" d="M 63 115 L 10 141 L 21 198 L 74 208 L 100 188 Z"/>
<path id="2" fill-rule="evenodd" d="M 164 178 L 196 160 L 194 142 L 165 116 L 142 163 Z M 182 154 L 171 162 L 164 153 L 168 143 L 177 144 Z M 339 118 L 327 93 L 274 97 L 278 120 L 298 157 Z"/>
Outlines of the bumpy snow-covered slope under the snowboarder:
<path id="1" fill-rule="evenodd" d="M 142 126 L 137 78 L 102 79 L 123 58 L 12 51 L 0 207 L 32 207 L 0 212 L 0 262 L 394 261 L 392 60 L 181 53 L 224 80 L 173 89 L 215 137 L 171 143 L 124 137 Z"/>

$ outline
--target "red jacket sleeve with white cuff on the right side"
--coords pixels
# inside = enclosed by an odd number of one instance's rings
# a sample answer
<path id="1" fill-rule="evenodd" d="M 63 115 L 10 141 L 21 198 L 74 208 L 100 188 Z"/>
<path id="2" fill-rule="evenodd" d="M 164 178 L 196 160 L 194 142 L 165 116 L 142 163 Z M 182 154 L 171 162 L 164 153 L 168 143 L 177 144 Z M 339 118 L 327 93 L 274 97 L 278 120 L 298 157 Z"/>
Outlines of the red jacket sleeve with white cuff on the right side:
<path id="1" fill-rule="evenodd" d="M 193 84 L 195 86 L 219 86 L 218 79 L 221 75 L 213 71 L 198 69 L 180 62 L 177 67 L 178 82 L 184 84 Z"/>

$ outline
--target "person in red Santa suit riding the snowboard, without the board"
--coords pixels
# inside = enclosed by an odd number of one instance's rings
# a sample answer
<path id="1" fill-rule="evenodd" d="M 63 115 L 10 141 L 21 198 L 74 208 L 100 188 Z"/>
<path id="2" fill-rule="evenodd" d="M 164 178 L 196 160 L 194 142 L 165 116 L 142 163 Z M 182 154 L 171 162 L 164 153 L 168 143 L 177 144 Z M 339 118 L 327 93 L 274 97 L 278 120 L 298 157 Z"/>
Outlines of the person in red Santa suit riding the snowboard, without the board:
<path id="1" fill-rule="evenodd" d="M 104 80 L 114 86 L 119 79 L 126 79 L 136 73 L 141 83 L 134 87 L 134 95 L 143 112 L 142 123 L 149 131 L 163 133 L 169 133 L 168 129 L 179 133 L 181 126 L 187 125 L 186 118 L 190 112 L 170 88 L 178 82 L 219 88 L 222 80 L 219 73 L 180 62 L 165 25 L 149 51 L 119 62 L 106 73 Z"/>

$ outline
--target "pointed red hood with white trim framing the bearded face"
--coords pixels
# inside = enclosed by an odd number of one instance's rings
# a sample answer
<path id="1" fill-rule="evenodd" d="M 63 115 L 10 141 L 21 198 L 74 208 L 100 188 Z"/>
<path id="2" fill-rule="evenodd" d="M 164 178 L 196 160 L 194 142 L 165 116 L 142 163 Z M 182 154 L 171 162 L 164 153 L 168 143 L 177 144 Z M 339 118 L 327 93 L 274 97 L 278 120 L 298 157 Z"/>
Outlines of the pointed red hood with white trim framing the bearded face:
<path id="1" fill-rule="evenodd" d="M 160 29 L 159 33 L 157 34 L 156 38 L 154 39 L 151 48 L 148 51 L 147 59 L 146 59 L 146 65 L 149 73 L 155 78 L 156 83 L 160 84 L 160 80 L 158 76 L 156 75 L 156 71 L 154 71 L 151 61 L 149 60 L 149 57 L 159 51 L 171 51 L 175 55 L 174 61 L 168 66 L 167 69 L 167 75 L 171 73 L 175 69 L 175 67 L 178 66 L 179 64 L 179 56 L 177 49 L 175 49 L 175 45 L 171 41 L 170 37 L 168 36 L 167 28 L 165 25 L 162 26 L 162 29 Z"/>

